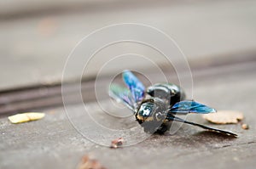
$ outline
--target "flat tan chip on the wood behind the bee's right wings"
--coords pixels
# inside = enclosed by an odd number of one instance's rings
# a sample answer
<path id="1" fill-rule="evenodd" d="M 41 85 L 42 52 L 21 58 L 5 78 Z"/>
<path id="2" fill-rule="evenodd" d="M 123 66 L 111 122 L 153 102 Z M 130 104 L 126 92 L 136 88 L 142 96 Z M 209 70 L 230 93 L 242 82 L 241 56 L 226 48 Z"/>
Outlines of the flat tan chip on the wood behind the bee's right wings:
<path id="1" fill-rule="evenodd" d="M 243 119 L 240 111 L 219 110 L 216 113 L 202 115 L 204 119 L 216 124 L 236 124 Z"/>

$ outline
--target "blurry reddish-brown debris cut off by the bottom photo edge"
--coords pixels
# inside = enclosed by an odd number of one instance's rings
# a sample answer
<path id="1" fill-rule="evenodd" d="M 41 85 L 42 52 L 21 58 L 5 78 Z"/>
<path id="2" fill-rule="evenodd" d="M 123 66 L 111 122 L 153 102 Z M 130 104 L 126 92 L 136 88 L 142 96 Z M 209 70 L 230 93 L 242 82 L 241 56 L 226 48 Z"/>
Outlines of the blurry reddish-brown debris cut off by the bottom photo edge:
<path id="1" fill-rule="evenodd" d="M 90 158 L 89 155 L 84 155 L 77 169 L 106 169 L 96 159 Z"/>

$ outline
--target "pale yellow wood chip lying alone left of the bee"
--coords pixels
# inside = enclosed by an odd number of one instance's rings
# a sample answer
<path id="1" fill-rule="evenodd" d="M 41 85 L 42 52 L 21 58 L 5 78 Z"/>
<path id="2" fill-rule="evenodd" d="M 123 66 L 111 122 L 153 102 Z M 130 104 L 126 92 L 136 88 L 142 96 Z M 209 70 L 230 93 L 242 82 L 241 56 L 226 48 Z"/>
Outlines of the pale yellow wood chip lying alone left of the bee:
<path id="1" fill-rule="evenodd" d="M 21 122 L 27 122 L 27 121 L 36 121 L 39 119 L 42 119 L 44 117 L 44 113 L 21 113 L 17 115 L 11 115 L 8 117 L 9 121 L 12 123 L 21 123 Z"/>

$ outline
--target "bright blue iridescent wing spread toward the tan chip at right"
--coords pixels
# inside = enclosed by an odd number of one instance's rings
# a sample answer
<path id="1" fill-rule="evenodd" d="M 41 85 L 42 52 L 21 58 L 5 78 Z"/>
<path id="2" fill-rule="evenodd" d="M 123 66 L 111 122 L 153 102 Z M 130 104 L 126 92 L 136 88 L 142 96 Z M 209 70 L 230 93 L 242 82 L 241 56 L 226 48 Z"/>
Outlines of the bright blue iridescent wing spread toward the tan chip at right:
<path id="1" fill-rule="evenodd" d="M 170 110 L 170 113 L 179 113 L 179 114 L 188 114 L 188 113 L 199 113 L 199 114 L 207 114 L 216 112 L 216 110 L 208 107 L 205 104 L 200 104 L 193 100 L 183 100 L 174 104 Z"/>

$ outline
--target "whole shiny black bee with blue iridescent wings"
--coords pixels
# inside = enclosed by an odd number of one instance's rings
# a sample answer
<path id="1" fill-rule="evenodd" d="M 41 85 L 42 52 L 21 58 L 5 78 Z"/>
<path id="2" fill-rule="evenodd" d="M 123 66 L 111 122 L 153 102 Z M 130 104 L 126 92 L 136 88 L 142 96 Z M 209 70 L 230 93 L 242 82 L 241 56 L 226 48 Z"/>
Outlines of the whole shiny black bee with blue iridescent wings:
<path id="1" fill-rule="evenodd" d="M 207 127 L 177 117 L 177 115 L 189 113 L 216 112 L 215 109 L 205 104 L 185 99 L 185 93 L 181 87 L 165 82 L 154 84 L 146 89 L 130 70 L 124 70 L 122 76 L 127 87 L 113 83 L 109 87 L 109 96 L 117 102 L 125 104 L 133 112 L 145 132 L 163 134 L 170 130 L 172 121 L 178 121 L 210 131 L 237 136 L 232 132 Z"/>

